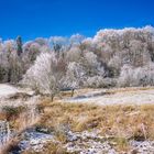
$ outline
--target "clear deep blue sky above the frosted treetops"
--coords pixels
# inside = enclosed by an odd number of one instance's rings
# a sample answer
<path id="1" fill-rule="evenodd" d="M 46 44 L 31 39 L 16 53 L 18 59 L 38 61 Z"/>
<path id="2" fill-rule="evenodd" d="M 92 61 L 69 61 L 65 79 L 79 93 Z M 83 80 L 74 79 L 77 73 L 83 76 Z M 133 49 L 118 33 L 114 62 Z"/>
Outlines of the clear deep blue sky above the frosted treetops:
<path id="1" fill-rule="evenodd" d="M 154 25 L 154 0 L 0 0 L 0 37 L 24 41 Z"/>

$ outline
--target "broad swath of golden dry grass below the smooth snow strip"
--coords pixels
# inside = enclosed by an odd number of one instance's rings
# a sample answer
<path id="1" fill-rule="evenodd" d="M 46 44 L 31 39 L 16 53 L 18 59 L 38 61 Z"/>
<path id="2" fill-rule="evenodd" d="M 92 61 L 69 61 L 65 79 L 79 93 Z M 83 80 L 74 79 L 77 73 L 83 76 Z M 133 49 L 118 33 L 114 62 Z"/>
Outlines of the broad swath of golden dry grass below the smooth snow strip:
<path id="1" fill-rule="evenodd" d="M 55 132 L 62 125 L 73 131 L 99 129 L 118 150 L 127 151 L 129 140 L 154 140 L 154 105 L 100 107 L 44 100 L 40 109 L 44 112 L 40 125 Z M 63 131 L 57 139 L 66 142 Z"/>

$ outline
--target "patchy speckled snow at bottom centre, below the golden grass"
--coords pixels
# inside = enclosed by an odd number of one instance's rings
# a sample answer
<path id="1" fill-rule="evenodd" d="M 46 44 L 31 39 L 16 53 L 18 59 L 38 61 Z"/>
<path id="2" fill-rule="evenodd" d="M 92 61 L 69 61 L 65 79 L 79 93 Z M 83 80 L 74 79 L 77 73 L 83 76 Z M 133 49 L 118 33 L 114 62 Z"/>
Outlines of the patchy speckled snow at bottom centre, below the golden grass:
<path id="1" fill-rule="evenodd" d="M 111 147 L 108 141 L 99 135 L 98 130 L 91 132 L 67 132 L 67 144 L 65 147 L 67 152 L 79 154 L 117 154 L 116 150 Z"/>

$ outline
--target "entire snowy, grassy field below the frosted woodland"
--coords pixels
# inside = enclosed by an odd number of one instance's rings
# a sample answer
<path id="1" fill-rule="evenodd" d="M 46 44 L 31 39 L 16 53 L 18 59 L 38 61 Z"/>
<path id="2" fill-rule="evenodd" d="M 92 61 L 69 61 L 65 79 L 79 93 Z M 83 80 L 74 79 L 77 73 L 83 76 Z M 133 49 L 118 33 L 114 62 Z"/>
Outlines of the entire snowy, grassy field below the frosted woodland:
<path id="1" fill-rule="evenodd" d="M 153 87 L 69 95 L 62 92 L 51 102 L 30 89 L 1 84 L 1 153 L 154 153 Z"/>

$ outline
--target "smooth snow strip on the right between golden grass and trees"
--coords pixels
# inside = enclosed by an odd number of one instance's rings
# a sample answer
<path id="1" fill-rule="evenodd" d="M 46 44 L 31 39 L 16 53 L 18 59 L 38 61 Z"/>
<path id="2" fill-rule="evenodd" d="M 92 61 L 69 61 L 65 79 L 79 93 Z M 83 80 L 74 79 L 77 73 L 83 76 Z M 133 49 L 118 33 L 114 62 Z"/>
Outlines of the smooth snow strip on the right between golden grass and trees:
<path id="1" fill-rule="evenodd" d="M 107 92 L 108 90 L 97 90 L 79 95 L 77 97 L 65 99 L 66 102 L 88 102 L 96 105 L 143 105 L 154 103 L 154 88 L 123 90 Z M 106 94 L 107 92 L 107 94 Z"/>

